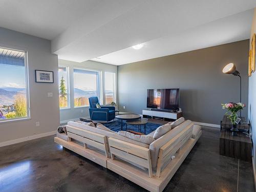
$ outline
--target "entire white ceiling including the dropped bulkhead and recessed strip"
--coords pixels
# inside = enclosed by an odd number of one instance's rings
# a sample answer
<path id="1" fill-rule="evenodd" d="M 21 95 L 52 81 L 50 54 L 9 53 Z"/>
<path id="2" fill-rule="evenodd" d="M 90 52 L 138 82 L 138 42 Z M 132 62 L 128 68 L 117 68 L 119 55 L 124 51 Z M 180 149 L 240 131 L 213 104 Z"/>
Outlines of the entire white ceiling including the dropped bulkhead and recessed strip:
<path id="1" fill-rule="evenodd" d="M 51 40 L 61 59 L 123 65 L 247 39 L 254 7 L 255 0 L 2 0 L 0 27 Z"/>

